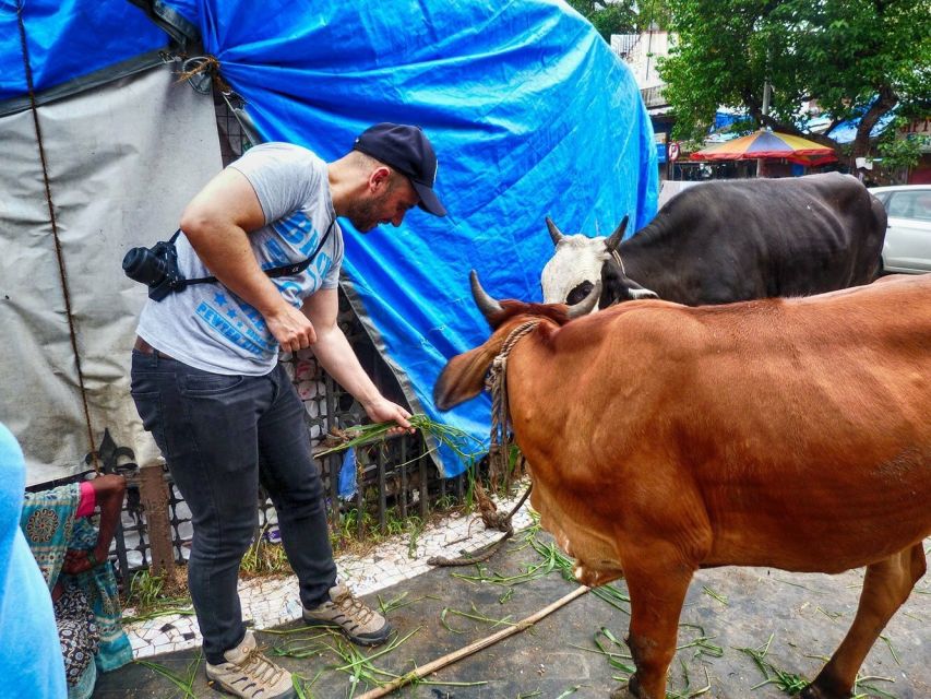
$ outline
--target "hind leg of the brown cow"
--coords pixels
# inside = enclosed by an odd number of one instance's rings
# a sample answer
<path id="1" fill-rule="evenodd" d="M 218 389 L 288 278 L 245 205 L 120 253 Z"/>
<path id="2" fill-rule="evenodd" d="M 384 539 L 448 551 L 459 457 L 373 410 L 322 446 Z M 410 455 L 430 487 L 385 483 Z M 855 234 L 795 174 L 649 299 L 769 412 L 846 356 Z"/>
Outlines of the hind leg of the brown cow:
<path id="1" fill-rule="evenodd" d="M 854 625 L 831 661 L 802 690 L 802 699 L 846 699 L 851 696 L 863 659 L 892 615 L 908 599 L 926 568 L 921 542 L 867 567 Z"/>

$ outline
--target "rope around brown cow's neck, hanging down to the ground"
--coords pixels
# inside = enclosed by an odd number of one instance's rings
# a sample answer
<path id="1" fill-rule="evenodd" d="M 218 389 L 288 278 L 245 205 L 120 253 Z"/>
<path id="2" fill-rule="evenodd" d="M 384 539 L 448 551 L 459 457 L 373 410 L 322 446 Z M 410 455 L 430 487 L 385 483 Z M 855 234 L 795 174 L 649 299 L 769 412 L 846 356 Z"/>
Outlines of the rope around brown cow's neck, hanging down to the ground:
<path id="1" fill-rule="evenodd" d="M 491 363 L 491 368 L 488 372 L 488 378 L 485 388 L 491 393 L 491 443 L 488 448 L 488 467 L 489 478 L 492 487 L 500 487 L 503 481 L 505 491 L 511 489 L 511 438 L 510 423 L 511 414 L 508 408 L 508 356 L 524 335 L 529 333 L 539 324 L 539 320 L 528 320 L 521 323 L 501 346 L 501 351 L 494 360 Z M 485 491 L 481 483 L 476 478 L 475 496 L 478 500 L 478 509 L 481 513 L 481 521 L 488 529 L 497 529 L 504 532 L 504 535 L 498 541 L 489 544 L 487 547 L 478 552 L 462 556 L 459 558 L 444 558 L 434 556 L 427 562 L 431 566 L 473 566 L 482 560 L 487 560 L 491 555 L 501 547 L 501 544 L 506 542 L 514 535 L 514 526 L 511 523 L 512 518 L 517 513 L 527 497 L 530 495 L 533 483 L 524 490 L 524 495 L 517 500 L 517 503 L 511 509 L 508 514 L 499 511 L 491 498 Z"/>

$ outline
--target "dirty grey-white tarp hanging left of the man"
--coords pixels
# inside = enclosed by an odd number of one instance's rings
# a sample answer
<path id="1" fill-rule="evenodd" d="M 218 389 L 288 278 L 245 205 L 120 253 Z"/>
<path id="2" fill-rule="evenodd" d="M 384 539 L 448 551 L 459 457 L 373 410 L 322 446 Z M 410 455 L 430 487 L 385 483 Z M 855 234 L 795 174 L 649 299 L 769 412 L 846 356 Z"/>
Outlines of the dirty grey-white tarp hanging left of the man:
<path id="1" fill-rule="evenodd" d="M 213 98 L 168 66 L 41 106 L 38 120 L 71 322 L 33 114 L 0 118 L 0 422 L 25 451 L 29 485 L 86 469 L 105 428 L 140 464 L 158 458 L 129 394 L 145 287 L 120 263 L 170 236 L 222 167 Z"/>

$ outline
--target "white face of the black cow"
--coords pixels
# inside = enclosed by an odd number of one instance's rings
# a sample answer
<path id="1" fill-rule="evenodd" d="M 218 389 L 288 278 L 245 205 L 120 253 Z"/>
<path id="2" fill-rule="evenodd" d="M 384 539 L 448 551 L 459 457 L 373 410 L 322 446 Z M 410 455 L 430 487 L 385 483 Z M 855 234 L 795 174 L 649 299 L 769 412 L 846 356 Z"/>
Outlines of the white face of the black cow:
<path id="1" fill-rule="evenodd" d="M 557 242 L 540 275 L 545 304 L 575 303 L 578 299 L 569 299 L 573 289 L 583 287 L 573 297 L 580 293 L 584 297 L 600 281 L 601 268 L 609 258 L 605 240 L 604 236 L 588 238 L 577 234 L 563 236 Z"/>

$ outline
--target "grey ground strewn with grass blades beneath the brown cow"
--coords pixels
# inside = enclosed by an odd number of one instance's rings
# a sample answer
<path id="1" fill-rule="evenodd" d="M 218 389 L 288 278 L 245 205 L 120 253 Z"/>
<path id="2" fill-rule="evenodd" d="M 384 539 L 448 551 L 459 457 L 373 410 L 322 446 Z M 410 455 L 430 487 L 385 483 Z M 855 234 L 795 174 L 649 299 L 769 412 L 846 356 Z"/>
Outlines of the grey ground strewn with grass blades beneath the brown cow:
<path id="1" fill-rule="evenodd" d="M 536 546 L 530 544 L 536 542 Z M 463 648 L 516 623 L 576 588 L 553 560 L 551 538 L 525 531 L 481 569 L 437 568 L 385 589 L 367 601 L 391 607 L 401 642 L 346 656 L 336 636 L 293 624 L 259 640 L 293 673 L 305 697 L 359 697 L 377 676 L 392 675 Z M 931 540 L 926 545 L 931 550 Z M 533 571 L 527 574 L 527 571 Z M 546 573 L 546 574 L 544 574 Z M 797 694 L 775 682 L 813 678 L 846 633 L 856 612 L 862 570 L 840 576 L 790 574 L 764 568 L 719 568 L 694 579 L 682 612 L 679 647 L 670 670 L 669 697 L 767 699 Z M 611 602 L 588 592 L 527 631 L 512 636 L 393 697 L 429 699 L 601 698 L 626 676 L 629 605 L 616 584 Z M 497 623 L 498 621 L 498 623 Z M 284 633 L 282 631 L 285 631 Z M 599 650 L 600 645 L 600 650 Z M 335 649 L 335 650 L 334 650 Z M 337 650 L 343 649 L 341 656 Z M 759 659 L 754 660 L 750 649 Z M 94 697 L 215 697 L 199 651 L 151 659 L 102 675 Z M 761 667 L 762 665 L 762 667 Z M 764 671 L 766 675 L 764 675 Z M 182 689 L 167 674 L 181 678 Z M 385 674 L 373 674 L 385 673 Z M 359 677 L 354 683 L 354 675 Z M 766 679 L 774 679 L 768 684 Z M 919 581 L 893 617 L 860 671 L 857 697 L 931 698 L 931 576 Z"/>

